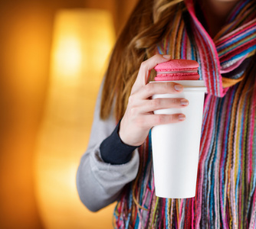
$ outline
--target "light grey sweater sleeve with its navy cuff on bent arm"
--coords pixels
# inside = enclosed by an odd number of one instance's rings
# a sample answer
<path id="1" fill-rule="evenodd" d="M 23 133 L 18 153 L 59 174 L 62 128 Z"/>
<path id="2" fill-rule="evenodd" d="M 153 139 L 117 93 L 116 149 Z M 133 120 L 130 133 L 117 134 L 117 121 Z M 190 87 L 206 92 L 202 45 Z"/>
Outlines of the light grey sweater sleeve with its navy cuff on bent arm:
<path id="1" fill-rule="evenodd" d="M 135 179 L 139 167 L 136 147 L 131 148 L 120 142 L 115 144 L 120 138 L 113 112 L 107 120 L 100 119 L 101 91 L 102 86 L 97 98 L 89 144 L 77 169 L 77 192 L 90 211 L 98 211 L 115 202 L 123 186 Z M 104 160 L 100 148 L 105 152 Z M 117 155 L 116 159 L 114 155 Z"/>

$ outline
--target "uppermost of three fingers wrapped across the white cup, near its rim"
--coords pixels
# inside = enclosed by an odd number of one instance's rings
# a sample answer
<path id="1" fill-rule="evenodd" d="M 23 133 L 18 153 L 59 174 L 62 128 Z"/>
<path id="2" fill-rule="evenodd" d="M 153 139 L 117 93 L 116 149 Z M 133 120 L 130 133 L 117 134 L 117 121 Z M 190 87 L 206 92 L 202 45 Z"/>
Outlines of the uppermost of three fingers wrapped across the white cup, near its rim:
<path id="1" fill-rule="evenodd" d="M 177 94 L 182 90 L 183 86 L 176 82 L 150 82 L 138 90 L 136 96 L 146 99 L 156 94 Z"/>

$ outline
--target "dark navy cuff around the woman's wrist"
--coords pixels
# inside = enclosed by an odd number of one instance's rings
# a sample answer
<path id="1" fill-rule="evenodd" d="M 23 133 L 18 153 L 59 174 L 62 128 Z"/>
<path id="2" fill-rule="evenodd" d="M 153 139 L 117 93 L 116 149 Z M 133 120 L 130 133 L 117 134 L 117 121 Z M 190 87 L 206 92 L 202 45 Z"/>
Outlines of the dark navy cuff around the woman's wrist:
<path id="1" fill-rule="evenodd" d="M 100 144 L 100 156 L 105 163 L 120 165 L 128 163 L 132 158 L 132 153 L 137 147 L 126 145 L 118 134 L 120 121 L 113 130 L 110 137 L 107 137 Z"/>

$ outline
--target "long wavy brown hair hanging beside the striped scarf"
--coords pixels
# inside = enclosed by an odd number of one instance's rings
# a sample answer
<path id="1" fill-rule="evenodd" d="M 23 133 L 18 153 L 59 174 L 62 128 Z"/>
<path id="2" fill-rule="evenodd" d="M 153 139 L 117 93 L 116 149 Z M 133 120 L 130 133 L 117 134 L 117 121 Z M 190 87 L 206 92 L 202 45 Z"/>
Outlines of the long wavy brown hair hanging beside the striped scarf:
<path id="1" fill-rule="evenodd" d="M 170 30 L 170 18 L 183 0 L 139 0 L 113 49 L 101 97 L 100 118 L 123 117 L 133 83 L 143 60 L 153 56 L 156 44 Z"/>

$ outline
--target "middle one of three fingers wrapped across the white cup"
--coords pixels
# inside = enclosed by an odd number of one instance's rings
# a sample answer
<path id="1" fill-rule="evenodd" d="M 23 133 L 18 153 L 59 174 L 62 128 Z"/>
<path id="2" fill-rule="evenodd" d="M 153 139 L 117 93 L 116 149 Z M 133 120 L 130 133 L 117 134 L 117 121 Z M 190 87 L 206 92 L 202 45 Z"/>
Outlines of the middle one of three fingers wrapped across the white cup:
<path id="1" fill-rule="evenodd" d="M 142 101 L 132 112 L 146 114 L 160 109 L 184 108 L 188 105 L 189 101 L 185 98 L 154 98 Z"/>

